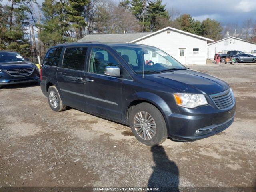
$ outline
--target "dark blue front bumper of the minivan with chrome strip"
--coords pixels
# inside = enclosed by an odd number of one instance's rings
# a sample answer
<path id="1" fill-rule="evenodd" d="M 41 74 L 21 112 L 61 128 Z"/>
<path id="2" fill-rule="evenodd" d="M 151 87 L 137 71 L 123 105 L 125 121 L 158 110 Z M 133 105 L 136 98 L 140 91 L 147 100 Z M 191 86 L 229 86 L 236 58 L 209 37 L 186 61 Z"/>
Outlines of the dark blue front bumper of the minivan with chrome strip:
<path id="1" fill-rule="evenodd" d="M 228 110 L 202 106 L 193 112 L 185 109 L 182 114 L 168 114 L 168 137 L 179 141 L 194 141 L 215 135 L 232 124 L 235 110 L 234 104 Z"/>

